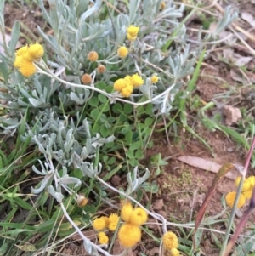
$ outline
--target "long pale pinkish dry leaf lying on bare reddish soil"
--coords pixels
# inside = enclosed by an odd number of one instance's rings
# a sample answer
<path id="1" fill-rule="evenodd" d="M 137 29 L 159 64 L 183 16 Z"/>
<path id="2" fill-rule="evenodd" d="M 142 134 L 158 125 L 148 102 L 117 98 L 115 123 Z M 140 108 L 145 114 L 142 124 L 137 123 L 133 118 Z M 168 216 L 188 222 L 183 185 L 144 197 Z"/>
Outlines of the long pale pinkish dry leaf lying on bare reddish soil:
<path id="1" fill-rule="evenodd" d="M 210 160 L 206 160 L 196 156 L 179 156 L 177 159 L 178 161 L 185 162 L 195 168 L 200 168 L 202 170 L 210 171 L 216 174 L 218 173 L 218 170 L 222 167 L 217 162 L 212 162 Z M 225 175 L 225 177 L 229 179 L 236 179 L 237 176 L 238 175 L 232 171 Z"/>

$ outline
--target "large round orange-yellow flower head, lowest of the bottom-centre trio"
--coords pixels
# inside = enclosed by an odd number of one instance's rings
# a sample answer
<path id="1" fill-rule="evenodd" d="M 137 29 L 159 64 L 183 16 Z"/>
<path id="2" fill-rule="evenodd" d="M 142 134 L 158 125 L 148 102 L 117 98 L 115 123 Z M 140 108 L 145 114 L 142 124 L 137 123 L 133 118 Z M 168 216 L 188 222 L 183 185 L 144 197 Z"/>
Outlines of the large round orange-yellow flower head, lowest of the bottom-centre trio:
<path id="1" fill-rule="evenodd" d="M 126 223 L 118 231 L 118 238 L 123 247 L 133 247 L 141 240 L 142 231 L 139 226 Z"/>

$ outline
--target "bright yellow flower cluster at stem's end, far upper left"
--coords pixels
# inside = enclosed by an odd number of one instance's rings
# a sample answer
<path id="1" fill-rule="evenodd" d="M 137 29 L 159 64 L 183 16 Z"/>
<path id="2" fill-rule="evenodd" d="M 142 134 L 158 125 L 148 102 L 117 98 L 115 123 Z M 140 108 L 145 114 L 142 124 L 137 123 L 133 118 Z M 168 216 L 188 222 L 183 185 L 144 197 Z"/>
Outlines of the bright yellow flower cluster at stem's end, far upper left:
<path id="1" fill-rule="evenodd" d="M 30 77 L 37 71 L 33 61 L 40 60 L 43 54 L 44 50 L 40 43 L 23 46 L 16 51 L 14 67 L 18 68 L 24 77 Z"/>

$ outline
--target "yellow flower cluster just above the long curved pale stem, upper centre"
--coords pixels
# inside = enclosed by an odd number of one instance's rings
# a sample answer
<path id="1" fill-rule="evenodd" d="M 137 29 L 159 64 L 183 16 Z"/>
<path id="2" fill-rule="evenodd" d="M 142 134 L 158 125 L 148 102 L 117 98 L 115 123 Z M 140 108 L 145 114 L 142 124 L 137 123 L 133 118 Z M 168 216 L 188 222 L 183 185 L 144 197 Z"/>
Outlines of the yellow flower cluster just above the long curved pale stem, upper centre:
<path id="1" fill-rule="evenodd" d="M 124 78 L 117 79 L 116 82 L 114 82 L 113 88 L 116 91 L 119 91 L 122 96 L 128 98 L 132 94 L 133 88 L 137 88 L 143 83 L 143 78 L 138 74 L 134 74 L 132 77 L 126 76 Z"/>

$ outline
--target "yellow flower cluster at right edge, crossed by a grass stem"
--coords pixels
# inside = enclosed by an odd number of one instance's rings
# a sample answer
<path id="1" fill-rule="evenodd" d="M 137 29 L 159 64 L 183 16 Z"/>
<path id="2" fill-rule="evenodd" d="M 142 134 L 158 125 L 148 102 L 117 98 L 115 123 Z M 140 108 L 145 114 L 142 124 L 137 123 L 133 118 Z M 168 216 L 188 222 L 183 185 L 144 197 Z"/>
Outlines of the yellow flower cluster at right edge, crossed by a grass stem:
<path id="1" fill-rule="evenodd" d="M 235 186 L 238 187 L 240 184 L 241 177 L 235 179 Z M 241 195 L 239 197 L 239 201 L 237 202 L 237 208 L 241 208 L 245 203 L 246 200 L 252 198 L 252 191 L 255 186 L 255 176 L 250 176 L 247 179 L 244 179 L 243 186 L 241 189 Z M 229 208 L 232 208 L 235 202 L 236 191 L 229 192 L 225 199 L 226 203 Z"/>

